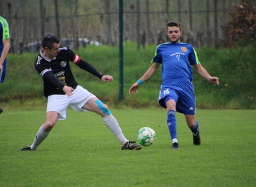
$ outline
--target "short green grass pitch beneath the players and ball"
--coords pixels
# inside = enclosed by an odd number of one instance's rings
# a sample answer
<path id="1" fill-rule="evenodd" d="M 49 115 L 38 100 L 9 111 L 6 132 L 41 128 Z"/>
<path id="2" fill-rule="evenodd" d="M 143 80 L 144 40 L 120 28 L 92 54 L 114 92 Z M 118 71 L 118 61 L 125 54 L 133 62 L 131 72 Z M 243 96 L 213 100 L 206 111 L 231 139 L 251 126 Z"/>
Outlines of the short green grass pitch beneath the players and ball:
<path id="1" fill-rule="evenodd" d="M 68 111 L 35 152 L 45 109 L 0 114 L 0 186 L 255 186 L 256 111 L 197 110 L 202 145 L 177 114 L 180 150 L 171 149 L 164 109 L 110 109 L 123 134 L 135 140 L 151 127 L 157 140 L 140 151 L 123 150 L 92 112 Z"/>

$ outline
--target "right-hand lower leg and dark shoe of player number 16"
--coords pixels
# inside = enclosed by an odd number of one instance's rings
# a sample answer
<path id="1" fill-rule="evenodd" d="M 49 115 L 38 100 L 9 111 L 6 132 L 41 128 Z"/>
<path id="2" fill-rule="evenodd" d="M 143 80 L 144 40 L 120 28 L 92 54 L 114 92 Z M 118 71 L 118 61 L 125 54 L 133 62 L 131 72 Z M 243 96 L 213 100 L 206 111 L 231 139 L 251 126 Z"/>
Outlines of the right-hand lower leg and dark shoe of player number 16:
<path id="1" fill-rule="evenodd" d="M 196 121 L 195 115 L 185 115 L 187 126 L 190 128 L 191 132 L 193 133 L 193 143 L 194 145 L 200 145 L 200 132 L 199 132 L 199 125 Z"/>

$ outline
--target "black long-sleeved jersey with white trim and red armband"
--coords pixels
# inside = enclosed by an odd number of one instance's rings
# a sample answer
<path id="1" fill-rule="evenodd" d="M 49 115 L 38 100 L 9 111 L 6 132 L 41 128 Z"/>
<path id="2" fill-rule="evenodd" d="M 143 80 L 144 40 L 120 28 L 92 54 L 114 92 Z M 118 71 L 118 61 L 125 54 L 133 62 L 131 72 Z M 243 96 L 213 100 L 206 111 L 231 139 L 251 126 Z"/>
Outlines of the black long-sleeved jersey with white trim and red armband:
<path id="1" fill-rule="evenodd" d="M 40 51 L 35 60 L 35 69 L 43 78 L 44 81 L 44 96 L 47 98 L 53 94 L 65 94 L 62 90 L 65 85 L 76 89 L 78 83 L 71 72 L 69 62 L 78 65 L 81 69 L 85 69 L 89 73 L 102 78 L 99 71 L 80 59 L 76 53 L 69 48 L 59 48 L 60 52 L 53 59 L 49 59 L 43 54 L 43 49 Z"/>

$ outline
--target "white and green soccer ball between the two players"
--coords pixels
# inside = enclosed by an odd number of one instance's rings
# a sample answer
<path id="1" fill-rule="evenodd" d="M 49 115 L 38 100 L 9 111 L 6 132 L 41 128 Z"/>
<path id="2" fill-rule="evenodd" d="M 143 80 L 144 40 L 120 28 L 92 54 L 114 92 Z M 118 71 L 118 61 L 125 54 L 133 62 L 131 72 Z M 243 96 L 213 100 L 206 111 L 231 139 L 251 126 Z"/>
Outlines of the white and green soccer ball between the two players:
<path id="1" fill-rule="evenodd" d="M 143 127 L 137 133 L 137 140 L 139 141 L 140 145 L 148 147 L 155 142 L 155 139 L 155 131 L 149 127 Z"/>

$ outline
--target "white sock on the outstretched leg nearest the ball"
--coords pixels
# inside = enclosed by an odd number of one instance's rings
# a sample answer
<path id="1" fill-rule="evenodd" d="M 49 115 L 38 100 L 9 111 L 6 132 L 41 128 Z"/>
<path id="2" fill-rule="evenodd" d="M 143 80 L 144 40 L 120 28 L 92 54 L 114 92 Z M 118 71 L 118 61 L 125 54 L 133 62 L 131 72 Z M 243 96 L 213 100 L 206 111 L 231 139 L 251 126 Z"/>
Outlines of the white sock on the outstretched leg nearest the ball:
<path id="1" fill-rule="evenodd" d="M 128 139 L 126 139 L 126 137 L 123 136 L 123 132 L 119 127 L 119 124 L 117 123 L 116 118 L 114 118 L 112 114 L 103 117 L 102 120 L 104 121 L 108 129 L 114 134 L 114 136 L 116 136 L 116 138 L 121 143 L 121 145 L 123 145 L 128 141 Z"/>

